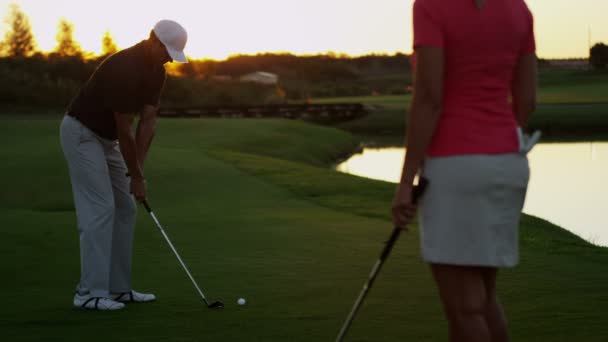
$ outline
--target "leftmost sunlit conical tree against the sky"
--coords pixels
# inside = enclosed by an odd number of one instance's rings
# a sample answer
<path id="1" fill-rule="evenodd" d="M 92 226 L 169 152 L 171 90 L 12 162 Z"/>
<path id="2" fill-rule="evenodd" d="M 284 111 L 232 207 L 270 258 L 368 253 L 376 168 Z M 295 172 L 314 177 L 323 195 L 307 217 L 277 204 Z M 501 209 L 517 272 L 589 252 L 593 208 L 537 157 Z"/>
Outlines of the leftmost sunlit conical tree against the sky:
<path id="1" fill-rule="evenodd" d="M 6 17 L 9 26 L 2 43 L 3 54 L 13 57 L 31 56 L 36 51 L 36 41 L 30 26 L 30 20 L 19 5 L 11 4 Z"/>

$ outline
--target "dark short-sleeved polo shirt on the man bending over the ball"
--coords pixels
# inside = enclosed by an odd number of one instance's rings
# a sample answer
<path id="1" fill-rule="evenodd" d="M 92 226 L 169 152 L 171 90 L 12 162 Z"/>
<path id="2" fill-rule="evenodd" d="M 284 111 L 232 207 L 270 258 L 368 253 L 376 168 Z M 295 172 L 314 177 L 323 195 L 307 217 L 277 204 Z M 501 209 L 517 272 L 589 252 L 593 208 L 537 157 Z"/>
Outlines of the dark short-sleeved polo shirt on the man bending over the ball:
<path id="1" fill-rule="evenodd" d="M 165 84 L 163 65 L 146 55 L 143 42 L 104 60 L 72 100 L 67 113 L 102 138 L 117 139 L 114 113 L 157 106 Z"/>

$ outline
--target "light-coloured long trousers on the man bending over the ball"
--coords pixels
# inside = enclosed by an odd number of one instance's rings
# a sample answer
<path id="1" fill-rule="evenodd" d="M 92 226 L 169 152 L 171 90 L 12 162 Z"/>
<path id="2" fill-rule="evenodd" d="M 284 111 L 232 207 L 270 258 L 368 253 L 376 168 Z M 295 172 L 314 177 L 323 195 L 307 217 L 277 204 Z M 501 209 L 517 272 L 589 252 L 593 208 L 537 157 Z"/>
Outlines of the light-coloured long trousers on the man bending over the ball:
<path id="1" fill-rule="evenodd" d="M 67 115 L 60 131 L 80 233 L 77 291 L 93 297 L 128 292 L 137 207 L 118 142 L 97 136 Z"/>

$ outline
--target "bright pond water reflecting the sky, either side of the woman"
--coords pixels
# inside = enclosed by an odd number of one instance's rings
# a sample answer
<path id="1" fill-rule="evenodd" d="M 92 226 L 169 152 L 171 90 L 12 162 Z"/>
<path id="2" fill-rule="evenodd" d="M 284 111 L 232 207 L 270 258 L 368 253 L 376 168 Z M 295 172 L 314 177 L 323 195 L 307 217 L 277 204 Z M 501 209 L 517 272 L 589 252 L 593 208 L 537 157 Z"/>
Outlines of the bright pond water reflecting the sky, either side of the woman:
<path id="1" fill-rule="evenodd" d="M 337 170 L 396 183 L 404 149 L 364 149 Z M 608 143 L 538 144 L 524 212 L 608 246 Z"/>

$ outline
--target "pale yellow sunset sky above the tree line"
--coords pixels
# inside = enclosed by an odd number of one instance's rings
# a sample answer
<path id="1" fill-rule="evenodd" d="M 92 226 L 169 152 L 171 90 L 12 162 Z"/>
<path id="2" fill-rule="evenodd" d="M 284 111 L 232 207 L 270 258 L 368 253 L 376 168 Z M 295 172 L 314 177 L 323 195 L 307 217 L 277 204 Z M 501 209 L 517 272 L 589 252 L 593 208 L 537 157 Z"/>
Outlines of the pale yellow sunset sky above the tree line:
<path id="1" fill-rule="evenodd" d="M 29 16 L 42 50 L 54 47 L 60 17 L 75 25 L 82 47 L 96 53 L 106 30 L 125 48 L 146 38 L 160 19 L 186 27 L 186 53 L 194 58 L 267 51 L 393 54 L 409 53 L 412 45 L 412 0 L 0 0 L 1 18 L 13 2 Z M 540 57 L 587 57 L 589 30 L 592 44 L 608 44 L 608 1 L 526 2 Z"/>

